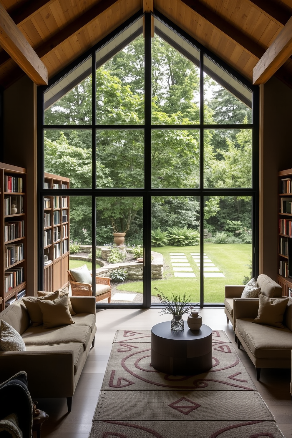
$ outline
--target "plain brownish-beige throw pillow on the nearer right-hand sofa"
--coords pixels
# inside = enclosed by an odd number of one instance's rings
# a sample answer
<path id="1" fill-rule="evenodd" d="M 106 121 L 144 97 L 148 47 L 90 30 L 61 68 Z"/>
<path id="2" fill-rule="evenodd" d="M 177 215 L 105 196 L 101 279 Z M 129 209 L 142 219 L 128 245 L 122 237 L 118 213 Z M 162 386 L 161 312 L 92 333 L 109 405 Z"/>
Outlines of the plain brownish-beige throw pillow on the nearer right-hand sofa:
<path id="1" fill-rule="evenodd" d="M 274 327 L 284 328 L 282 324 L 284 313 L 289 298 L 269 298 L 263 293 L 259 293 L 259 310 L 257 318 L 253 320 L 257 324 L 272 325 Z"/>

